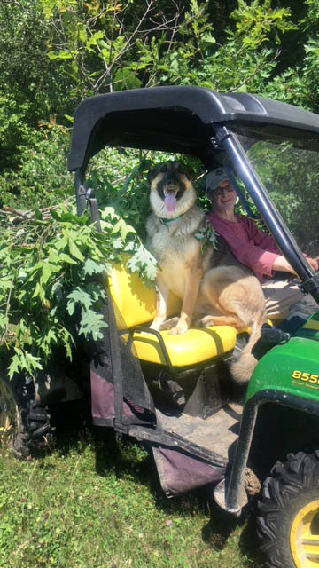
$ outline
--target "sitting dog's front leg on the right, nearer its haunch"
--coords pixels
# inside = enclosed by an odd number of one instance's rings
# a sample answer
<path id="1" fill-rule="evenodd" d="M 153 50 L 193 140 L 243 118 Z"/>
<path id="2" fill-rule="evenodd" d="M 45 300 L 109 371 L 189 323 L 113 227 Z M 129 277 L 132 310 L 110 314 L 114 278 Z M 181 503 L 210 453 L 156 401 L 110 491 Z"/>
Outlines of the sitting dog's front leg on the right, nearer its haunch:
<path id="1" fill-rule="evenodd" d="M 198 266 L 191 264 L 186 269 L 185 292 L 183 305 L 178 323 L 168 333 L 172 335 L 184 334 L 191 326 L 191 319 L 194 312 L 196 298 L 198 296 L 199 282 L 202 277 L 202 270 Z"/>

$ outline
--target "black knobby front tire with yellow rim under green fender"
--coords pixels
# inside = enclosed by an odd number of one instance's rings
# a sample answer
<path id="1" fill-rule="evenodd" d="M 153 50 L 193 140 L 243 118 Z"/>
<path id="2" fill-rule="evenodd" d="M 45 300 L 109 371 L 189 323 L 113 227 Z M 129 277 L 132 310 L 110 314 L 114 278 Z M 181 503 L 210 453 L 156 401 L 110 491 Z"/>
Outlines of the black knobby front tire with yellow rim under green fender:
<path id="1" fill-rule="evenodd" d="M 289 454 L 271 469 L 258 502 L 258 534 L 265 568 L 319 564 L 319 451 Z"/>

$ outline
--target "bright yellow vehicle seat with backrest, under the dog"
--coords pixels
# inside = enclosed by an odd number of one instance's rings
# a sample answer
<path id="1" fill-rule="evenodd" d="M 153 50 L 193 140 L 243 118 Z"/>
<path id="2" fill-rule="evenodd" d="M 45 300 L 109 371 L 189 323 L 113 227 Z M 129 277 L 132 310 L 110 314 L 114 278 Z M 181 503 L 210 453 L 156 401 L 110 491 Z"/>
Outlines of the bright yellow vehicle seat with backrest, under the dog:
<path id="1" fill-rule="evenodd" d="M 113 303 L 120 314 L 118 327 L 131 330 L 138 359 L 166 365 L 158 337 L 152 331 L 134 331 L 136 326 L 149 327 L 155 316 L 155 288 L 144 286 L 136 273 L 128 272 L 124 263 L 113 265 L 109 286 Z M 180 309 L 181 300 L 170 295 L 167 315 L 178 314 Z M 232 351 L 238 333 L 234 327 L 212 326 L 191 328 L 183 335 L 169 335 L 168 331 L 161 331 L 159 335 L 173 367 L 192 367 L 216 357 L 221 358 L 224 353 Z"/>

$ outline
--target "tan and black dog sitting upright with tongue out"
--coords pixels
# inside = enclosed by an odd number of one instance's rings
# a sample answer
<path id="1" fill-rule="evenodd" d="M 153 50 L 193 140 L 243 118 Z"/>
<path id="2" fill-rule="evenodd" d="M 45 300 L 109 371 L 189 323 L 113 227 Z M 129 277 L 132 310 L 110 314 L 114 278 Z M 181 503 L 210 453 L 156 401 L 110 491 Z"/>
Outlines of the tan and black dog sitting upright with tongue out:
<path id="1" fill-rule="evenodd" d="M 152 214 L 147 243 L 159 264 L 156 315 L 151 328 L 183 334 L 191 322 L 201 327 L 249 326 L 251 335 L 231 367 L 237 383 L 249 381 L 256 365 L 251 353 L 267 322 L 260 282 L 231 255 L 222 237 L 203 244 L 205 213 L 196 205 L 192 174 L 180 162 L 163 162 L 148 172 Z M 199 238 L 198 238 L 199 237 Z M 167 320 L 169 291 L 182 299 L 178 318 Z"/>

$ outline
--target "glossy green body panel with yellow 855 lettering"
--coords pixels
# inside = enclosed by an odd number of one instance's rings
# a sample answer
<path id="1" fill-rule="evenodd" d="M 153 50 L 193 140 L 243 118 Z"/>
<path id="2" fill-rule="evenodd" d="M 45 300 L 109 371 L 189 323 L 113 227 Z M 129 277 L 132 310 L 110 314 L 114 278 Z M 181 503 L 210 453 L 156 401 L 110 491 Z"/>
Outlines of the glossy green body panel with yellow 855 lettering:
<path id="1" fill-rule="evenodd" d="M 276 345 L 258 362 L 246 400 L 260 390 L 276 390 L 319 403 L 319 313 L 288 343 Z"/>

